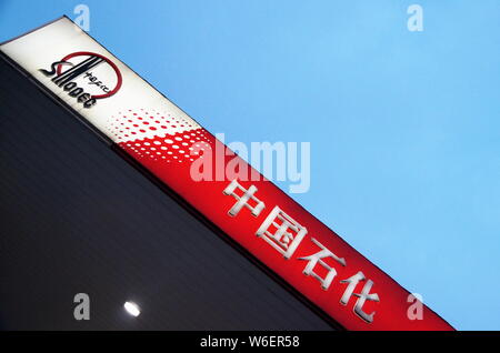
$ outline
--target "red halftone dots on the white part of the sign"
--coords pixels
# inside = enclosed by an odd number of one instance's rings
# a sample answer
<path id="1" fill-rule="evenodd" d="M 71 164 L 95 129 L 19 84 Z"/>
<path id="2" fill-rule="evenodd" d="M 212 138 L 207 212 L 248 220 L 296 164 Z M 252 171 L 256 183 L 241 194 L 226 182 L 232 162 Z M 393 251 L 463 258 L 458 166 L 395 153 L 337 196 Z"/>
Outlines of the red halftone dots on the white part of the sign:
<path id="1" fill-rule="evenodd" d="M 154 109 L 119 111 L 108 119 L 108 131 L 116 142 L 166 137 L 201 129 L 193 120 Z"/>

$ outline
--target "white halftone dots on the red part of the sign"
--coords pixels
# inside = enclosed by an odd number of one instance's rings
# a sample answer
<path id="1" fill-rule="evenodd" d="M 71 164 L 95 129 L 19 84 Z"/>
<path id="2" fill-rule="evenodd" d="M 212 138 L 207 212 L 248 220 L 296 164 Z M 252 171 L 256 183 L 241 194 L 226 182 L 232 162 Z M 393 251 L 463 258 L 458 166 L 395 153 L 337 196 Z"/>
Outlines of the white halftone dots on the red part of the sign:
<path id="1" fill-rule="evenodd" d="M 213 140 L 203 129 L 152 139 L 119 142 L 136 159 L 151 159 L 156 162 L 191 163 L 203 158 L 207 150 L 213 150 Z"/>

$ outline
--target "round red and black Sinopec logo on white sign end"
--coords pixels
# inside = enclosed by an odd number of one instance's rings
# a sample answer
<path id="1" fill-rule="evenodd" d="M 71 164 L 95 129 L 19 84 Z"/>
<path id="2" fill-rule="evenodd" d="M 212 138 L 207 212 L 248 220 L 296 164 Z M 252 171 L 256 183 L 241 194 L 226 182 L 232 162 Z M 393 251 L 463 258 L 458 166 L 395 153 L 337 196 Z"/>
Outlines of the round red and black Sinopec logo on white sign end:
<path id="1" fill-rule="evenodd" d="M 52 62 L 50 70 L 39 71 L 84 108 L 92 108 L 99 99 L 117 93 L 122 81 L 120 70 L 111 60 L 88 51 L 68 54 Z"/>

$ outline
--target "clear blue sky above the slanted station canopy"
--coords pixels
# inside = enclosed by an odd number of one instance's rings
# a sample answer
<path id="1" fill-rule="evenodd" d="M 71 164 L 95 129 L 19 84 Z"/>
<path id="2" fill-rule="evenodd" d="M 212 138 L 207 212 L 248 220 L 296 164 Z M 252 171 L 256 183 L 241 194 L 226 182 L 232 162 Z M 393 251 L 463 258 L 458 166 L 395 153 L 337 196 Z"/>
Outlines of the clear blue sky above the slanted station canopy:
<path id="1" fill-rule="evenodd" d="M 0 40 L 79 3 L 209 131 L 311 142 L 298 202 L 457 329 L 500 329 L 500 1 L 0 0 Z"/>

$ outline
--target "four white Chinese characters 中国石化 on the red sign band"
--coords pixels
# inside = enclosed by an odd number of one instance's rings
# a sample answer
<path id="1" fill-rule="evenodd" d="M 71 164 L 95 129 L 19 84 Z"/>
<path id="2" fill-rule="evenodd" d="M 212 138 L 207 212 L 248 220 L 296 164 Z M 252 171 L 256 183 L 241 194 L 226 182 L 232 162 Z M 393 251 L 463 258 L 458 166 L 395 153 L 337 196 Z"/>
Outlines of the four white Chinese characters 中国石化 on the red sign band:
<path id="1" fill-rule="evenodd" d="M 247 208 L 253 216 L 258 218 L 262 210 L 266 209 L 266 204 L 254 195 L 257 191 L 258 189 L 254 185 L 250 185 L 250 188 L 244 189 L 236 179 L 232 180 L 222 191 L 224 195 L 231 195 L 237 200 L 237 203 L 234 203 L 234 205 L 229 210 L 229 215 L 237 216 L 243 208 Z M 304 240 L 307 233 L 308 230 L 306 226 L 301 225 L 278 205 L 276 205 L 259 226 L 256 235 L 264 240 L 286 260 L 290 260 L 300 243 Z M 332 259 L 336 263 L 338 263 L 338 265 L 343 268 L 347 266 L 347 262 L 343 258 L 339 258 L 314 238 L 310 238 L 310 241 L 318 248 L 318 252 L 304 258 L 298 258 L 296 260 L 307 261 L 302 273 L 318 280 L 321 284 L 321 289 L 328 291 L 337 276 L 337 270 L 329 265 L 324 260 Z M 321 273 L 324 273 L 324 270 L 327 271 L 326 275 L 319 274 L 319 266 L 323 268 Z M 316 272 L 314 269 L 317 269 Z M 360 293 L 354 293 L 360 282 L 366 283 Z M 367 280 L 364 274 L 359 271 L 351 278 L 339 281 L 339 283 L 347 283 L 347 288 L 340 299 L 340 303 L 342 305 L 347 305 L 350 299 L 356 296 L 357 302 L 354 304 L 354 313 L 367 323 L 373 322 L 373 316 L 376 313 L 372 312 L 368 314 L 363 312 L 366 301 L 380 301 L 377 293 L 370 293 L 371 288 L 373 286 L 373 281 Z"/>

